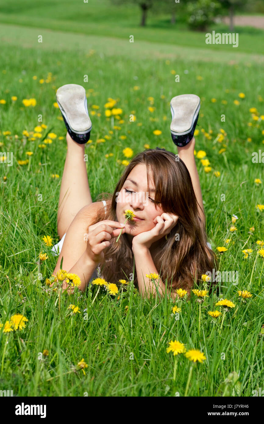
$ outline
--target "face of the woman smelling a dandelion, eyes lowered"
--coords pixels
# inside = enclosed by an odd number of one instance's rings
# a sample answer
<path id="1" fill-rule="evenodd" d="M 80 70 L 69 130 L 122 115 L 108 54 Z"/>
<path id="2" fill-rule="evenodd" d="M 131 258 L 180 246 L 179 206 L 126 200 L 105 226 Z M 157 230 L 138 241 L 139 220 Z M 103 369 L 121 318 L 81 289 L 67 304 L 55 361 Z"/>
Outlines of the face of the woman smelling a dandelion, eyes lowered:
<path id="1" fill-rule="evenodd" d="M 150 176 L 149 176 L 150 178 Z M 132 183 L 133 180 L 135 183 Z M 164 211 L 161 207 L 155 207 L 153 180 L 149 180 L 149 192 L 147 192 L 147 167 L 144 164 L 136 165 L 128 175 L 117 196 L 117 220 L 125 222 L 125 210 L 130 209 L 136 217 L 142 220 L 126 220 L 125 233 L 132 244 L 133 237 L 142 232 L 150 231 L 156 224 L 153 220 Z M 129 192 L 128 192 L 128 191 Z"/>

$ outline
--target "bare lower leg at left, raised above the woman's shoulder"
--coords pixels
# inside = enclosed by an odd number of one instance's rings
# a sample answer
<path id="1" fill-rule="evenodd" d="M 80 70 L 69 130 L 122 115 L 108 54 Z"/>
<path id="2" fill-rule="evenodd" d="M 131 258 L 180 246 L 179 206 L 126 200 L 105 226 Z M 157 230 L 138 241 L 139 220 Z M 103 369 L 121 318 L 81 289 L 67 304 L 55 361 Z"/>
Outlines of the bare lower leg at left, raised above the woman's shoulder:
<path id="1" fill-rule="evenodd" d="M 86 162 L 83 157 L 85 145 L 76 143 L 68 132 L 66 139 L 68 149 L 62 174 L 57 214 L 57 229 L 60 238 L 67 232 L 79 210 L 92 203 Z"/>

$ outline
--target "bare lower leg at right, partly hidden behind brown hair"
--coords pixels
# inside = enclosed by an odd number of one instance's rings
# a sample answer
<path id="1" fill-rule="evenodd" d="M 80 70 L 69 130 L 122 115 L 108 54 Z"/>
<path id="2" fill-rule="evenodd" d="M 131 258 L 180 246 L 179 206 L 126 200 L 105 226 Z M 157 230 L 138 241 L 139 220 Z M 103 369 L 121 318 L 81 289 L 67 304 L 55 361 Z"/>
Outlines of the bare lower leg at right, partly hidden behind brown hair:
<path id="1" fill-rule="evenodd" d="M 201 217 L 201 220 L 203 222 L 203 226 L 205 227 L 206 223 L 206 217 L 204 214 L 203 209 L 203 198 L 202 198 L 202 192 L 201 192 L 201 186 L 200 186 L 200 180 L 198 176 L 198 171 L 195 163 L 195 156 L 194 156 L 194 150 L 195 150 L 195 138 L 192 137 L 191 141 L 184 147 L 178 147 L 178 154 L 180 156 L 180 159 L 184 162 L 186 165 L 186 168 L 188 169 L 191 179 L 192 179 L 192 186 L 195 191 L 195 195 L 197 198 L 197 202 L 199 204 L 199 214 Z"/>

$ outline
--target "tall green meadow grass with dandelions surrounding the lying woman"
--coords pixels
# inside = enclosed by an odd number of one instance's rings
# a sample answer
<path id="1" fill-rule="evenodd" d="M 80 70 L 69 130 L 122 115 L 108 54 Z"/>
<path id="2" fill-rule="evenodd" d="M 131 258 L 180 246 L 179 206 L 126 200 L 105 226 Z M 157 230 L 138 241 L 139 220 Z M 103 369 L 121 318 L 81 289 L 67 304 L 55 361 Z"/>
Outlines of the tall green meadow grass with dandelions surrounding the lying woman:
<path id="1" fill-rule="evenodd" d="M 38 23 L 41 16 L 39 11 Z M 52 30 L 43 30 L 43 43 L 37 43 L 39 33 L 39 28 L 16 25 L 3 25 L 1 29 L 0 99 L 6 104 L 0 104 L 0 151 L 13 152 L 14 165 L 0 164 L 0 322 L 15 313 L 28 318 L 25 329 L 0 332 L 1 390 L 13 390 L 14 396 L 184 396 L 191 363 L 182 354 L 179 356 L 174 381 L 174 357 L 166 352 L 170 340 L 176 339 L 187 349 L 200 349 L 206 356 L 204 363 L 198 363 L 192 371 L 188 396 L 252 396 L 253 390 L 263 387 L 264 371 L 263 336 L 259 335 L 264 324 L 264 262 L 256 257 L 256 241 L 264 239 L 264 212 L 256 205 L 264 204 L 264 190 L 263 181 L 259 186 L 254 183 L 256 178 L 263 179 L 263 164 L 251 160 L 252 152 L 264 150 L 264 120 L 254 122 L 249 112 L 256 107 L 264 115 L 264 102 L 258 98 L 262 94 L 261 58 L 243 51 L 231 52 L 237 62 L 234 64 L 227 53 L 212 49 L 211 60 L 209 54 L 205 60 L 195 57 L 191 47 L 172 46 L 169 42 L 157 54 L 157 40 L 137 41 L 125 47 L 122 39 L 107 44 L 103 36 L 67 35 Z M 133 50 L 129 50 L 131 47 Z M 200 48 L 204 50 L 204 46 Z M 175 83 L 172 70 L 180 75 L 179 83 Z M 184 73 L 186 70 L 188 73 Z M 49 72 L 53 80 L 39 84 Z M 89 75 L 88 83 L 83 83 L 85 74 Z M 38 78 L 33 80 L 33 75 Z M 197 80 L 197 75 L 203 80 Z M 60 113 L 53 103 L 55 88 L 68 83 L 85 86 L 89 111 L 92 105 L 99 106 L 91 116 L 92 142 L 86 145 L 93 201 L 98 194 L 114 190 L 125 169 L 121 163 L 127 159 L 122 153 L 124 148 L 131 147 L 136 154 L 148 144 L 150 148 L 164 147 L 177 153 L 169 129 L 170 99 L 189 92 L 200 96 L 200 132 L 195 137 L 195 148 L 206 151 L 212 167 L 205 173 L 196 159 L 208 240 L 216 251 L 226 238 L 231 238 L 220 270 L 239 271 L 237 286 L 222 282 L 219 287 L 221 295 L 236 305 L 225 315 L 221 333 L 221 321 L 214 325 L 207 314 L 216 309 L 219 298 L 215 294 L 202 304 L 199 335 L 199 305 L 193 295 L 183 301 L 179 320 L 175 320 L 172 302 L 142 299 L 132 283 L 127 292 L 120 293 L 118 301 L 102 291 L 92 304 L 95 294 L 87 291 L 61 296 L 60 309 L 58 294 L 44 286 L 56 258 L 42 237 L 50 235 L 53 243 L 58 241 L 56 215 L 67 146 L 65 138 L 58 140 L 65 137 L 66 128 L 57 119 Z M 245 99 L 238 97 L 239 92 L 245 93 Z M 12 95 L 17 101 L 12 102 Z M 148 110 L 149 96 L 155 99 L 153 113 Z M 104 116 L 108 97 L 118 99 L 118 107 L 123 110 L 121 130 L 114 130 L 112 121 Z M 36 106 L 23 106 L 25 98 L 36 98 Z M 211 98 L 217 102 L 212 103 Z M 236 99 L 239 106 L 233 104 Z M 222 104 L 222 100 L 228 103 Z M 130 123 L 133 110 L 136 121 Z M 47 128 L 41 139 L 31 141 L 23 137 L 22 131 L 33 131 L 39 125 L 39 114 Z M 221 114 L 225 114 L 225 122 L 221 122 Z M 253 125 L 248 126 L 248 122 Z M 212 131 L 210 140 L 202 128 Z M 227 134 L 222 143 L 216 139 L 220 128 Z M 154 136 L 155 129 L 162 134 Z M 3 135 L 4 131 L 11 135 Z M 111 139 L 96 143 L 109 131 L 113 131 Z M 39 148 L 49 132 L 57 138 L 46 148 Z M 127 139 L 120 139 L 121 135 Z M 223 147 L 226 150 L 219 153 Z M 19 165 L 17 160 L 28 158 L 27 151 L 33 152 L 30 162 Z M 106 153 L 113 156 L 106 157 Z M 214 171 L 220 171 L 220 178 L 214 176 Z M 59 178 L 54 179 L 52 174 Z M 38 200 L 39 194 L 42 200 Z M 225 201 L 221 200 L 223 194 Z M 231 233 L 233 214 L 239 219 L 237 231 Z M 255 231 L 250 236 L 252 226 Z M 252 256 L 243 259 L 242 248 L 252 248 Z M 42 280 L 38 280 L 36 264 L 40 251 L 49 256 L 41 268 Z M 237 290 L 247 288 L 253 297 L 244 304 Z M 81 313 L 69 315 L 69 304 L 78 305 Z M 41 360 L 44 349 L 49 355 Z M 82 358 L 88 364 L 86 375 L 71 368 Z M 238 374 L 238 382 L 225 382 L 230 373 Z"/>

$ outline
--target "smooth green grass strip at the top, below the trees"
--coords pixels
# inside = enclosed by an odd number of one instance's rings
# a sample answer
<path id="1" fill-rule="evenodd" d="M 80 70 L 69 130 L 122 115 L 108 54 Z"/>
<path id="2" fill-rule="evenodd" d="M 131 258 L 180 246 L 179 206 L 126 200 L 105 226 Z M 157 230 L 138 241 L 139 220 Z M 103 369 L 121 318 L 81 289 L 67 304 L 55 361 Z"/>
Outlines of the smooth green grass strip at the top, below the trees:
<path id="1" fill-rule="evenodd" d="M 189 31 L 186 13 L 179 8 L 177 25 L 170 25 L 170 15 L 150 11 L 147 28 L 139 27 L 140 9 L 133 5 L 115 6 L 110 0 L 89 0 L 89 3 L 71 0 L 46 0 L 38 5 L 30 0 L 22 0 L 19 5 L 0 0 L 0 22 L 26 27 L 47 28 L 83 33 L 93 36 L 116 37 L 129 40 L 133 35 L 139 40 L 166 43 L 174 46 L 195 49 L 215 50 L 231 53 L 251 53 L 263 55 L 263 33 L 261 29 L 237 27 L 239 47 L 231 45 L 206 45 L 205 33 Z M 230 32 L 228 25 L 214 24 L 211 32 Z M 206 31 L 207 32 L 207 31 Z M 237 50 L 236 52 L 234 50 Z M 197 52 L 197 55 L 199 52 Z"/>

